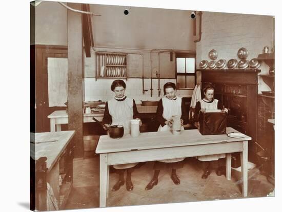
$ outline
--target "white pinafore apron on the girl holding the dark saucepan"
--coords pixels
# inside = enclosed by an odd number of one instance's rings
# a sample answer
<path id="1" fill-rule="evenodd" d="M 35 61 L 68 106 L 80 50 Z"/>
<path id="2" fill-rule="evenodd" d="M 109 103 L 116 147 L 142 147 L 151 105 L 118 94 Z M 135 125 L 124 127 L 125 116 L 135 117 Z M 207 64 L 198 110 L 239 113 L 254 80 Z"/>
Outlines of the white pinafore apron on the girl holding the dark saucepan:
<path id="1" fill-rule="evenodd" d="M 126 97 L 123 101 L 110 99 L 108 101 L 109 113 L 112 116 L 111 125 L 123 125 L 124 135 L 130 133 L 130 120 L 133 119 L 133 99 Z M 118 141 L 117 141 L 118 142 Z M 114 168 L 123 169 L 134 167 L 137 163 L 114 165 Z"/>

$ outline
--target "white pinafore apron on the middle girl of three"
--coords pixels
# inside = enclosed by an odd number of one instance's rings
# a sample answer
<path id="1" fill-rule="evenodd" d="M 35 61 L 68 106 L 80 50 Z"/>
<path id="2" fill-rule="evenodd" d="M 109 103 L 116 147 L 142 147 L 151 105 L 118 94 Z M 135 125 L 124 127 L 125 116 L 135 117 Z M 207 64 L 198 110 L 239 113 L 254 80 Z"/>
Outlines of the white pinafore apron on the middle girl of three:
<path id="1" fill-rule="evenodd" d="M 163 117 L 167 120 L 172 119 L 172 115 L 182 115 L 181 111 L 181 103 L 182 103 L 182 98 L 181 97 L 176 97 L 175 100 L 168 99 L 167 97 L 162 98 L 163 101 Z M 181 130 L 184 130 L 184 127 L 181 127 Z M 158 132 L 162 131 L 172 131 L 172 128 L 166 124 L 164 126 L 159 125 Z M 166 159 L 166 160 L 158 160 L 160 162 L 165 162 L 165 163 L 174 163 L 174 162 L 179 162 L 183 161 L 184 158 L 173 158 L 173 159 Z"/>

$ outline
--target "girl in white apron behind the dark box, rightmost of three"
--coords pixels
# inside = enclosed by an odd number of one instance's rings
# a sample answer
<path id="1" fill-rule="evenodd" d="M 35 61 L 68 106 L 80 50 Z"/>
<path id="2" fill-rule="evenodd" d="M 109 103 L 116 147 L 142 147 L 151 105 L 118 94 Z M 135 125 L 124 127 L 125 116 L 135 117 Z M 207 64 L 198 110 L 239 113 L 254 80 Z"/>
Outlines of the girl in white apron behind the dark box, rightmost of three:
<path id="1" fill-rule="evenodd" d="M 226 113 L 228 110 L 224 108 L 221 103 L 213 98 L 214 95 L 214 89 L 212 87 L 206 87 L 204 89 L 204 99 L 199 100 L 196 103 L 196 108 L 195 108 L 195 125 L 198 127 L 199 126 L 199 111 L 201 109 L 206 109 L 206 110 L 217 110 L 217 109 L 223 109 Z M 207 155 L 207 156 L 199 156 L 196 157 L 198 160 L 203 161 L 203 168 L 204 168 L 204 174 L 202 175 L 203 179 L 206 179 L 210 173 L 211 173 L 211 163 L 212 161 L 217 161 L 217 171 L 216 174 L 218 176 L 225 174 L 225 165 L 224 161 L 225 160 L 218 160 L 220 158 L 225 158 L 225 154 L 215 154 L 215 155 Z"/>

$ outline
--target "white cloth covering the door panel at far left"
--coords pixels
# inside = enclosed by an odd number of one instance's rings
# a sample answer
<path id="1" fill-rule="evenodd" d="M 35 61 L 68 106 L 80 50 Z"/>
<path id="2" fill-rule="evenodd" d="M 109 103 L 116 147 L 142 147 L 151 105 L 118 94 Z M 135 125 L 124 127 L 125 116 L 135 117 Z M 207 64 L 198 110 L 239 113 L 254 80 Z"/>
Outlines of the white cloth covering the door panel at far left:
<path id="1" fill-rule="evenodd" d="M 49 107 L 66 107 L 68 101 L 68 58 L 48 57 Z"/>

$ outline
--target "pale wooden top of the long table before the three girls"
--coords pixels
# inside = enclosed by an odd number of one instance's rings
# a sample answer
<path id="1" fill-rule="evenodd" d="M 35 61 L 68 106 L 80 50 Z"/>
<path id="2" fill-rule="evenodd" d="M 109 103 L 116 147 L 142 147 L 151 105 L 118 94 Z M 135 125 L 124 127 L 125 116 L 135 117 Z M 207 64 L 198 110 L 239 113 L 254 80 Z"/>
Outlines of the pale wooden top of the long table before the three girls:
<path id="1" fill-rule="evenodd" d="M 226 128 L 226 132 L 236 132 L 233 128 Z M 234 141 L 251 140 L 249 136 L 244 138 L 231 138 L 227 135 L 201 135 L 196 130 L 184 130 L 180 135 L 173 135 L 170 131 L 140 133 L 138 137 L 131 137 L 130 134 L 120 139 L 110 138 L 108 135 L 100 136 L 96 153 L 124 152 L 134 150 L 158 149 L 164 147 L 200 145 L 208 143 L 222 143 Z M 172 142 L 173 141 L 173 142 Z"/>

